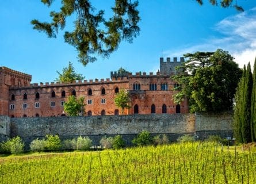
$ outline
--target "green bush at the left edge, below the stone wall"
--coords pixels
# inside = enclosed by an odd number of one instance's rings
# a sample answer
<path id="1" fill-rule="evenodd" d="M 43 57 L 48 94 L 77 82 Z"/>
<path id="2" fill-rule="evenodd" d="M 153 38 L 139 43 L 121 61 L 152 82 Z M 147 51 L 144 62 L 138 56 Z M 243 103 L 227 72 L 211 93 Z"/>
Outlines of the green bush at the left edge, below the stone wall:
<path id="1" fill-rule="evenodd" d="M 21 137 L 13 137 L 12 139 L 7 140 L 6 142 L 1 143 L 0 151 L 6 154 L 21 154 L 24 151 L 24 142 Z"/>

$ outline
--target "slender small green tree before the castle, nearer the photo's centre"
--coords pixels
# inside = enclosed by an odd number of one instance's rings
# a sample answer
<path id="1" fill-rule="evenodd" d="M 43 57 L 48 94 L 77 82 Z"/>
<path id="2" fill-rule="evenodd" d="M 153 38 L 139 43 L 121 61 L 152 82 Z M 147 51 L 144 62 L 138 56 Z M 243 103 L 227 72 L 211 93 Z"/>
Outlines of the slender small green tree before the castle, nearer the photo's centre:
<path id="1" fill-rule="evenodd" d="M 131 106 L 129 103 L 131 102 L 131 98 L 129 97 L 128 91 L 121 89 L 119 93 L 117 93 L 116 97 L 114 97 L 114 104 L 118 108 L 122 109 L 122 114 L 124 114 L 124 109 L 129 109 Z"/>

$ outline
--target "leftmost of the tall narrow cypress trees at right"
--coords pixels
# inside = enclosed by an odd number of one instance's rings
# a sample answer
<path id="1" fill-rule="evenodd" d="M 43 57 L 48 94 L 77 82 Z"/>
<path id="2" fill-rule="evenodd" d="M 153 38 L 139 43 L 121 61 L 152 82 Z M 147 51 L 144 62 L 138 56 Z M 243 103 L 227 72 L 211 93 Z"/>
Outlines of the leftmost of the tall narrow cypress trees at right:
<path id="1" fill-rule="evenodd" d="M 242 114 L 243 114 L 243 94 L 244 94 L 244 82 L 246 76 L 246 67 L 243 67 L 243 75 L 240 78 L 238 87 L 235 93 L 235 110 L 234 110 L 234 136 L 239 143 L 243 142 L 242 139 Z"/>

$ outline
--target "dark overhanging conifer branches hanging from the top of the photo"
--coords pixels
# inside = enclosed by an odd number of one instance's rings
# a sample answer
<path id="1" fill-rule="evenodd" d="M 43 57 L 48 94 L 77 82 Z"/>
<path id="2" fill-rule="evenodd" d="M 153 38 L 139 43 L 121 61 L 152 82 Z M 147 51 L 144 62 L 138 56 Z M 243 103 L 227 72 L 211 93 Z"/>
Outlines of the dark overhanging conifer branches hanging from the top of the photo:
<path id="1" fill-rule="evenodd" d="M 51 6 L 54 0 L 41 0 L 44 5 Z M 95 55 L 108 57 L 116 51 L 122 40 L 132 43 L 140 31 L 138 26 L 140 17 L 138 1 L 115 0 L 112 7 L 113 16 L 108 20 L 104 17 L 104 10 L 96 11 L 89 0 L 63 0 L 60 11 L 51 11 L 52 22 L 32 20 L 33 29 L 43 31 L 48 37 L 56 37 L 59 29 L 66 26 L 68 17 L 75 17 L 74 30 L 64 33 L 64 41 L 74 46 L 78 51 L 79 62 L 84 66 L 96 60 Z M 202 5 L 202 0 L 197 0 Z M 212 5 L 221 7 L 234 6 L 243 11 L 242 7 L 232 4 L 233 0 L 209 0 Z"/>

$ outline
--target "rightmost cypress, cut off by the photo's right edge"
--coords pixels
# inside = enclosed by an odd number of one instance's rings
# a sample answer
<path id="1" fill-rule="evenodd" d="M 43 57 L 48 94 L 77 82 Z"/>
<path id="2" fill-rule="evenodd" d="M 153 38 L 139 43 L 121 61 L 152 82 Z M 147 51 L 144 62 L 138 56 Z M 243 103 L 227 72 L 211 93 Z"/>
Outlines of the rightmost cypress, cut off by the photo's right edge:
<path id="1" fill-rule="evenodd" d="M 251 140 L 256 140 L 256 58 L 253 68 L 253 89 L 251 91 Z"/>

